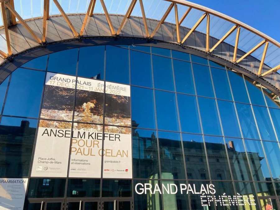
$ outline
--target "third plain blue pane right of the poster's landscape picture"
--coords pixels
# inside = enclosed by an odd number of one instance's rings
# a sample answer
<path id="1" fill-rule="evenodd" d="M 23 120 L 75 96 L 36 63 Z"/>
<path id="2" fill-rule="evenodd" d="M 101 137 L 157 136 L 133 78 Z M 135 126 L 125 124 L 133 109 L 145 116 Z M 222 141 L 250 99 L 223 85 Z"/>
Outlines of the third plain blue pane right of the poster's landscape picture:
<path id="1" fill-rule="evenodd" d="M 201 133 L 196 96 L 177 94 L 182 132 Z"/>

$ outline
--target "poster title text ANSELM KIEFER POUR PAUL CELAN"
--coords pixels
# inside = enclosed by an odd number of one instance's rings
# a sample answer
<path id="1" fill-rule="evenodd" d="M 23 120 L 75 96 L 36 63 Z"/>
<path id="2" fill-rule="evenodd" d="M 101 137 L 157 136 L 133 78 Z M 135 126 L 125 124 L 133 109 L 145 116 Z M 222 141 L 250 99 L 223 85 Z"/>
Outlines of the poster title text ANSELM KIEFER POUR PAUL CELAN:
<path id="1" fill-rule="evenodd" d="M 71 138 L 71 130 L 45 128 L 42 136 L 56 138 Z M 104 133 L 104 141 L 121 141 L 121 135 L 118 133 Z M 102 156 L 102 133 L 72 131 L 71 155 L 82 156 Z M 128 150 L 121 149 L 103 149 L 103 156 L 107 157 L 128 157 Z"/>

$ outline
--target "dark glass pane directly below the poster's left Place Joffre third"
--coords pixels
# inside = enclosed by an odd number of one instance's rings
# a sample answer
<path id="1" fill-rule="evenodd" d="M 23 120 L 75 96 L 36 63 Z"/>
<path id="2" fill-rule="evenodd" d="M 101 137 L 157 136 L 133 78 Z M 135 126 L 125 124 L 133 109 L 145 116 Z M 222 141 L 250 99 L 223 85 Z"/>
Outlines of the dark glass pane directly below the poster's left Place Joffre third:
<path id="1" fill-rule="evenodd" d="M 27 198 L 63 198 L 66 179 L 31 178 Z"/>

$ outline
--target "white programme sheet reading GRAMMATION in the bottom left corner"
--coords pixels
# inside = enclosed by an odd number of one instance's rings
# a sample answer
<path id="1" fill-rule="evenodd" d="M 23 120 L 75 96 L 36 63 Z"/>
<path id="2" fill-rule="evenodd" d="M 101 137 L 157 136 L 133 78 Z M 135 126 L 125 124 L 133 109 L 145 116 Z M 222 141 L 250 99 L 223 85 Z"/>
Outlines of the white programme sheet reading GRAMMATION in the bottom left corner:
<path id="1" fill-rule="evenodd" d="M 27 178 L 0 178 L 0 210 L 22 210 Z"/>

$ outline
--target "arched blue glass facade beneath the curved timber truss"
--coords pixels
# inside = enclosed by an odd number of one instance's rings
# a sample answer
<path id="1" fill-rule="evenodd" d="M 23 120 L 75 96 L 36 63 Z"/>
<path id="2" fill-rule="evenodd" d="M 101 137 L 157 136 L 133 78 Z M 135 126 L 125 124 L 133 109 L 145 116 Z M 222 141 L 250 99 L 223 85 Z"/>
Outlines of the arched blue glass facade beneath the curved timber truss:
<path id="1" fill-rule="evenodd" d="M 68 209 L 82 202 L 83 209 L 254 210 L 270 198 L 277 210 L 277 100 L 244 75 L 184 52 L 127 45 L 59 51 L 25 63 L 0 85 L 0 179 L 28 179 L 24 209 L 40 209 L 41 201 L 60 209 L 66 201 Z M 41 128 L 49 137 L 64 132 L 65 174 L 34 175 L 42 170 L 32 168 L 38 144 L 51 144 L 40 140 Z M 94 131 L 93 140 L 81 131 Z M 73 153 L 93 158 L 92 175 L 73 175 Z M 108 156 L 131 158 L 127 176 L 109 174 Z"/>

